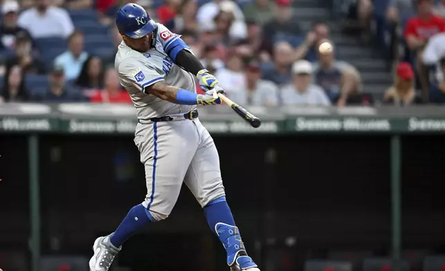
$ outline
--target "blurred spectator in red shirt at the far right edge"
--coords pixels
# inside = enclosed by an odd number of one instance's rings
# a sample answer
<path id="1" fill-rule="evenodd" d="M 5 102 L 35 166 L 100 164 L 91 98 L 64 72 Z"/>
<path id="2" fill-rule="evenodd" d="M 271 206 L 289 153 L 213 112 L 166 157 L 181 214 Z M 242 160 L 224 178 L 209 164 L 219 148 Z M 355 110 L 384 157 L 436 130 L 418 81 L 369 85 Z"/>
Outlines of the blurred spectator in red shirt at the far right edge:
<path id="1" fill-rule="evenodd" d="M 415 53 L 415 64 L 424 93 L 428 93 L 428 73 L 422 64 L 422 52 L 428 39 L 445 32 L 445 19 L 433 15 L 434 0 L 417 0 L 417 15 L 408 20 L 405 39 L 408 48 Z"/>

